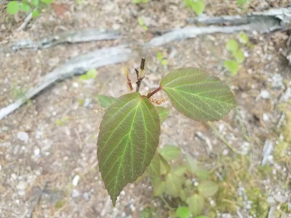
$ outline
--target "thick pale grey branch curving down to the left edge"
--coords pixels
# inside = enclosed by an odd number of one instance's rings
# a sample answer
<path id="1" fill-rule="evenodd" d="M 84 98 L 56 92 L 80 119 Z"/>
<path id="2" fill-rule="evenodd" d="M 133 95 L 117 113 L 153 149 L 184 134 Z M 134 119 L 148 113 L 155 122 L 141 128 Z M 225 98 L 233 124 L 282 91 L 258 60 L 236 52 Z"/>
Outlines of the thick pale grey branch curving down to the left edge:
<path id="1" fill-rule="evenodd" d="M 123 45 L 98 49 L 67 61 L 65 64 L 45 75 L 35 87 L 27 93 L 24 93 L 23 97 L 17 99 L 5 108 L 0 109 L 0 120 L 55 82 L 64 80 L 65 78 L 71 78 L 75 75 L 81 75 L 92 68 L 126 62 L 129 60 L 130 54 L 131 49 L 127 45 Z"/>

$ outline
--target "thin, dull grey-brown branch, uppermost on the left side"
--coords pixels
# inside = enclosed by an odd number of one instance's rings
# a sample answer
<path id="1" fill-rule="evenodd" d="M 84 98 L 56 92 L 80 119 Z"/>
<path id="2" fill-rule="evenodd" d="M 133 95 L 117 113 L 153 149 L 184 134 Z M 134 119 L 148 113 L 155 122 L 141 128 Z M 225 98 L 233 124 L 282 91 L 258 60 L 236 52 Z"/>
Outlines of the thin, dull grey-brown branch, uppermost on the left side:
<path id="1" fill-rule="evenodd" d="M 113 40 L 118 39 L 119 35 L 116 31 L 100 31 L 94 29 L 69 31 L 60 34 L 51 35 L 45 37 L 39 41 L 32 41 L 31 39 L 20 40 L 11 46 L 0 48 L 0 52 L 8 53 L 11 51 L 17 51 L 22 48 L 30 49 L 44 49 L 48 47 L 54 47 L 61 43 L 81 43 L 100 40 Z"/>

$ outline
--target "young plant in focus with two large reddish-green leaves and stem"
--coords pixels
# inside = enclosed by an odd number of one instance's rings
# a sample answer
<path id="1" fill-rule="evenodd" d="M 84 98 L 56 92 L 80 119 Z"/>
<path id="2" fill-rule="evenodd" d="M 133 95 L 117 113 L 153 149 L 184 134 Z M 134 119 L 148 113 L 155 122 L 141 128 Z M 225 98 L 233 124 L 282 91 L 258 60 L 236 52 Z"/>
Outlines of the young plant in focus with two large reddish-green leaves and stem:
<path id="1" fill-rule="evenodd" d="M 144 174 L 156 154 L 161 119 L 158 109 L 150 101 L 155 93 L 162 90 L 174 108 L 200 122 L 218 121 L 237 105 L 230 89 L 219 78 L 193 67 L 173 70 L 162 79 L 159 88 L 141 95 L 139 89 L 145 78 L 145 61 L 142 58 L 140 68 L 136 70 L 135 92 L 117 98 L 105 110 L 99 127 L 99 171 L 113 206 L 121 190 Z M 128 77 L 129 83 L 131 85 Z"/>

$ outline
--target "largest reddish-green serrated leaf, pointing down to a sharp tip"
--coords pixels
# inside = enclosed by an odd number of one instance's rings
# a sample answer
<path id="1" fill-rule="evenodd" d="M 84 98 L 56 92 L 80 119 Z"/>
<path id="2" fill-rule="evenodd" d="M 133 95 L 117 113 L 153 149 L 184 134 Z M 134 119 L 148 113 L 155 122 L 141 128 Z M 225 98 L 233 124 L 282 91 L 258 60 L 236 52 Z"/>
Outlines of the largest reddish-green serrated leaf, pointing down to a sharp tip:
<path id="1" fill-rule="evenodd" d="M 143 175 L 160 138 L 158 110 L 146 96 L 129 93 L 105 110 L 97 141 L 97 158 L 113 206 L 123 187 Z"/>

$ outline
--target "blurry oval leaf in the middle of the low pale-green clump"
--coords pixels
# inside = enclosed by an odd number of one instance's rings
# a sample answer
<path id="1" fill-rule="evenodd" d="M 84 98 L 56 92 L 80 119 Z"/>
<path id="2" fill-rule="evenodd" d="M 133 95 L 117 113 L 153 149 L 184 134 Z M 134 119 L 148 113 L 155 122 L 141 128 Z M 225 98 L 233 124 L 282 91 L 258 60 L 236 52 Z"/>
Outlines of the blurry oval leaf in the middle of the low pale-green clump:
<path id="1" fill-rule="evenodd" d="M 176 198 L 179 197 L 180 191 L 182 189 L 182 183 L 180 178 L 174 173 L 168 173 L 166 176 L 166 189 L 165 193 Z"/>

